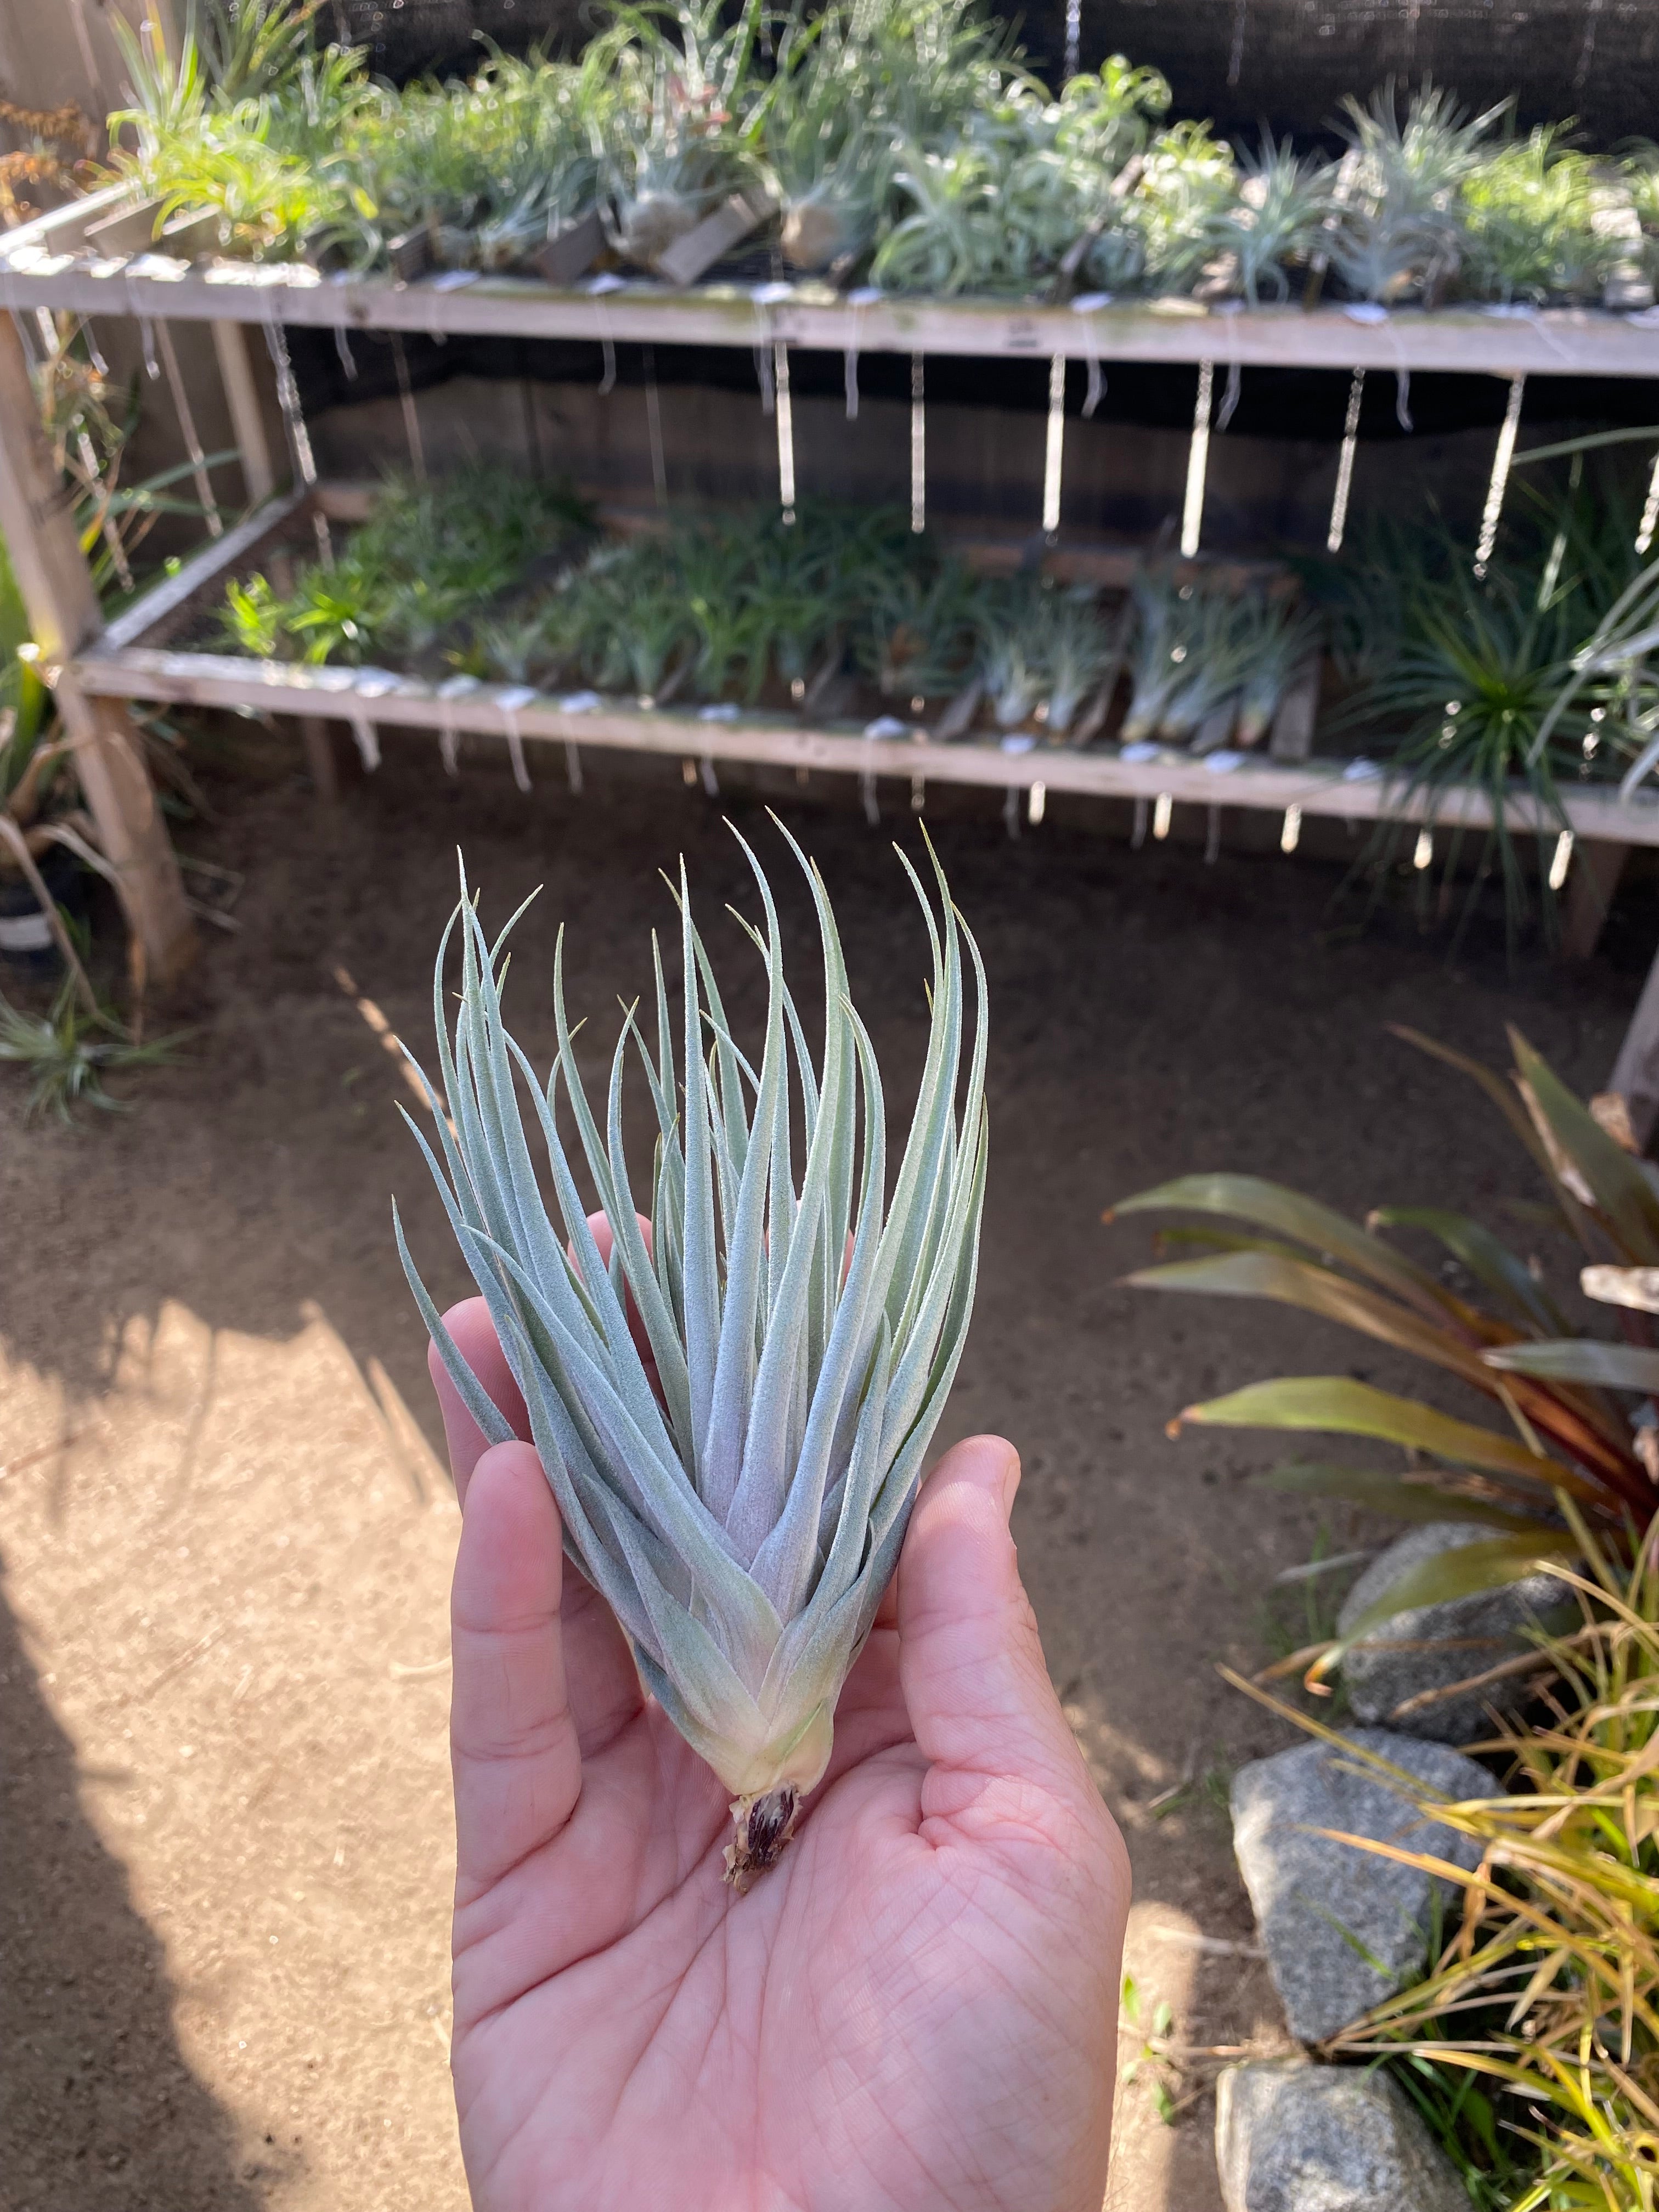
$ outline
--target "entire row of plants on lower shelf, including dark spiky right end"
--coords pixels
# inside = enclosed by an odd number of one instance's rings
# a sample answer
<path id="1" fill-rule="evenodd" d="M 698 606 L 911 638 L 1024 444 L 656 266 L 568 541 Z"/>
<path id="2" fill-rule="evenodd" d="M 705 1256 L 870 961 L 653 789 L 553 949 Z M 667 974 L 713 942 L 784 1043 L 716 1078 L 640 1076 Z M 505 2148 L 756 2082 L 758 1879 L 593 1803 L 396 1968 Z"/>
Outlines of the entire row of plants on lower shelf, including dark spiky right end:
<path id="1" fill-rule="evenodd" d="M 305 531 L 294 515 L 290 529 Z M 173 650 L 396 668 L 591 712 L 790 717 L 940 743 L 1261 750 L 1318 670 L 1318 752 L 1400 790 L 1562 792 L 1659 765 L 1650 571 L 1613 469 L 1520 478 L 1486 573 L 1440 522 L 1338 560 L 1208 571 L 1144 557 L 1126 591 L 987 568 L 902 507 L 803 502 L 599 524 L 560 484 L 476 465 L 389 478 L 330 557 L 272 546 Z M 159 641 L 159 639 L 157 639 Z M 1509 852 L 1509 847 L 1504 847 Z"/>

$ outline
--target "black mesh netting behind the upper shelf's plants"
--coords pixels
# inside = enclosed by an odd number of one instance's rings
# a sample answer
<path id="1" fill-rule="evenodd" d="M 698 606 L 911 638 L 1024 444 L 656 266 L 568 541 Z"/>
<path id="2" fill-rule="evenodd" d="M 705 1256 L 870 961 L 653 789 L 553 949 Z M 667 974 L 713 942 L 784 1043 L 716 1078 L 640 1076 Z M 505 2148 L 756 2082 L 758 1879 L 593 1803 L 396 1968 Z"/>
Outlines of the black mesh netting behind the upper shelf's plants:
<path id="1" fill-rule="evenodd" d="M 1086 64 L 1128 53 L 1170 80 L 1177 113 L 1232 133 L 1259 122 L 1312 137 L 1345 93 L 1431 75 L 1467 102 L 1517 95 L 1522 122 L 1575 115 L 1610 146 L 1659 135 L 1659 0 L 1073 0 Z M 1051 73 L 1066 0 L 1018 13 Z M 327 0 L 336 38 L 389 77 L 467 69 L 476 35 L 524 49 L 580 42 L 591 0 Z"/>

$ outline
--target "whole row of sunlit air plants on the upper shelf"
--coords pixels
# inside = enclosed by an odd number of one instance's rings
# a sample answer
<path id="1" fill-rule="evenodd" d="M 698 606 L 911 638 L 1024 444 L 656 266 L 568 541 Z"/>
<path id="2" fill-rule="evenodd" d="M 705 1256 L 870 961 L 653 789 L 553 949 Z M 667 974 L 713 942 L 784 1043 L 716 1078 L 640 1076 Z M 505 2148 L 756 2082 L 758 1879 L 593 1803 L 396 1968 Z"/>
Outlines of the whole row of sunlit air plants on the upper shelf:
<path id="1" fill-rule="evenodd" d="M 206 0 L 175 55 L 111 18 L 135 206 L 91 248 L 1250 305 L 1644 310 L 1659 272 L 1659 148 L 1597 157 L 1440 88 L 1349 100 L 1334 159 L 1172 117 L 1121 55 L 1048 86 L 973 0 L 613 4 L 571 58 L 403 88 L 321 46 L 319 7 Z"/>

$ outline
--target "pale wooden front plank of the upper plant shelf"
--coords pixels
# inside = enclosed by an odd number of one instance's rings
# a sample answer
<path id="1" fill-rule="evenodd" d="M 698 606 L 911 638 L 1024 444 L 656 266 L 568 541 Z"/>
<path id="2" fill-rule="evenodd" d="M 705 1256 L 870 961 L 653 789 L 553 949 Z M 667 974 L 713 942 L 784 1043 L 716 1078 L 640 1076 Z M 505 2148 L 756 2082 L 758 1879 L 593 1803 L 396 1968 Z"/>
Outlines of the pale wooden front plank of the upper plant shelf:
<path id="1" fill-rule="evenodd" d="M 119 195 L 97 197 L 102 206 Z M 854 303 L 812 281 L 703 285 L 692 292 L 648 281 L 604 292 L 555 290 L 518 276 L 456 283 L 440 274 L 398 283 L 392 276 L 323 276 L 303 263 L 195 265 L 161 254 L 93 261 L 77 234 L 88 206 L 80 201 L 7 237 L 0 307 L 434 336 L 730 347 L 783 341 L 865 354 L 1066 354 L 1075 361 L 1659 378 L 1657 310 L 1628 316 L 1590 307 L 1400 307 L 1376 319 L 1343 305 L 1245 310 L 1190 299 L 1113 301 L 1091 312 L 987 299 L 880 296 Z"/>

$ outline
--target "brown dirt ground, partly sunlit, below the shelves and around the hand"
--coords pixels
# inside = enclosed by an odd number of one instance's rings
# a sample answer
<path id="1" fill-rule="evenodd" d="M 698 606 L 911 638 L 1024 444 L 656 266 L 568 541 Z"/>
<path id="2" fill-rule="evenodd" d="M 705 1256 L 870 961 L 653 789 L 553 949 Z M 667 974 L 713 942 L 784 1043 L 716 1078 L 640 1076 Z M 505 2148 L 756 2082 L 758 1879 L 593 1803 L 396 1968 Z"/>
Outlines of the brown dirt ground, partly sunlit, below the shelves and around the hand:
<path id="1" fill-rule="evenodd" d="M 292 759 L 259 732 L 221 748 L 217 821 L 184 832 L 246 876 L 241 929 L 212 936 L 186 1002 L 190 1064 L 73 1135 L 24 1128 L 0 1084 L 4 2212 L 465 2205 L 445 2070 L 458 1513 L 394 1188 L 434 1287 L 465 1283 L 380 1031 L 427 1042 L 456 843 L 495 916 L 549 887 L 515 960 L 524 1044 L 549 1051 L 564 920 L 599 1060 L 670 911 L 657 869 L 684 852 L 712 916 L 743 898 L 721 812 L 765 827 L 752 792 L 712 805 L 677 763 L 595 763 L 580 801 L 542 770 L 524 801 L 495 759 L 447 785 L 398 741 L 323 818 Z M 785 812 L 902 1093 L 925 942 L 887 836 L 816 792 Z M 1402 920 L 1329 933 L 1336 869 L 1307 856 L 1130 852 L 1064 803 L 1009 843 L 989 794 L 929 821 L 993 1004 L 982 1290 L 940 1442 L 998 1427 L 1024 1453 L 1015 1535 L 1135 1858 L 1146 2008 L 1168 2002 L 1186 2044 L 1270 2044 L 1219 1798 L 1281 1730 L 1214 1661 L 1261 1661 L 1270 1582 L 1321 1513 L 1245 1486 L 1272 1458 L 1250 1438 L 1170 1442 L 1164 1422 L 1274 1369 L 1387 1369 L 1298 1316 L 1117 1287 L 1148 1234 L 1102 1208 L 1232 1166 L 1354 1212 L 1491 1212 L 1526 1192 L 1511 1139 L 1385 1024 L 1495 1057 L 1515 1020 L 1595 1088 L 1655 916 L 1632 891 L 1582 971 L 1509 973 L 1484 945 L 1453 969 Z M 887 827 L 914 843 L 907 814 Z M 805 929 L 794 887 L 787 918 Z M 743 975 L 734 931 L 717 942 Z M 752 984 L 728 989 L 739 1022 Z M 1190 2068 L 1175 2126 L 1150 2070 L 1124 2088 L 1113 2205 L 1217 2212 L 1208 2077 Z"/>

